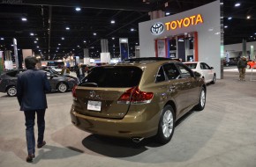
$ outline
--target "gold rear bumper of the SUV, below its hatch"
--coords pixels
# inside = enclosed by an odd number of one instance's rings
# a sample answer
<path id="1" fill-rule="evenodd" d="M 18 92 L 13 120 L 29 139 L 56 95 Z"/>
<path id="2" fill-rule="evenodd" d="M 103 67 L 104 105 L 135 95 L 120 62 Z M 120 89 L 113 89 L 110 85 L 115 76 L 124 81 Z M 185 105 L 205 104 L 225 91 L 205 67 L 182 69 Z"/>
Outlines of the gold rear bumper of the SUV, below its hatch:
<path id="1" fill-rule="evenodd" d="M 147 111 L 150 112 L 150 111 Z M 72 124 L 92 134 L 115 137 L 151 137 L 157 134 L 159 114 L 148 118 L 146 113 L 126 114 L 122 120 L 103 119 L 77 113 L 72 105 Z"/>

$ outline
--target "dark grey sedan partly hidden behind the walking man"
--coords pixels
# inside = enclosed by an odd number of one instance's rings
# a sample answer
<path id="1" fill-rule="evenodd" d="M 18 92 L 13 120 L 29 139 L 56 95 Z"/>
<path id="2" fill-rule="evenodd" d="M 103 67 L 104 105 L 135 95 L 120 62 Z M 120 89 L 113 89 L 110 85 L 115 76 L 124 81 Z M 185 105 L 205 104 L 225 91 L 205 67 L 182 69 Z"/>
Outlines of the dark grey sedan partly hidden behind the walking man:
<path id="1" fill-rule="evenodd" d="M 26 69 L 13 69 L 5 71 L 4 74 L 0 76 L 0 92 L 7 92 L 7 95 L 10 97 L 16 96 L 17 75 L 25 70 Z M 77 79 L 72 78 L 72 76 L 60 76 L 49 70 L 43 71 L 47 73 L 51 91 L 65 92 L 72 90 L 73 86 L 78 84 Z"/>

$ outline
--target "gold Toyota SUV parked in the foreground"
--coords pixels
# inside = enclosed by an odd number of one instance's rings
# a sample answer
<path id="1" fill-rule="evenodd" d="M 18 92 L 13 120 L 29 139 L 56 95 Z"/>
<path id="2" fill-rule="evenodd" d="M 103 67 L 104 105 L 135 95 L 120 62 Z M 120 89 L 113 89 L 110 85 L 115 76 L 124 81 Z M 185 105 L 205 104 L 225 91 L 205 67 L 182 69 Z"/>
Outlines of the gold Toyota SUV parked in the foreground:
<path id="1" fill-rule="evenodd" d="M 200 74 L 168 58 L 135 58 L 90 69 L 73 88 L 73 125 L 92 134 L 170 141 L 175 122 L 203 110 L 207 87 Z"/>

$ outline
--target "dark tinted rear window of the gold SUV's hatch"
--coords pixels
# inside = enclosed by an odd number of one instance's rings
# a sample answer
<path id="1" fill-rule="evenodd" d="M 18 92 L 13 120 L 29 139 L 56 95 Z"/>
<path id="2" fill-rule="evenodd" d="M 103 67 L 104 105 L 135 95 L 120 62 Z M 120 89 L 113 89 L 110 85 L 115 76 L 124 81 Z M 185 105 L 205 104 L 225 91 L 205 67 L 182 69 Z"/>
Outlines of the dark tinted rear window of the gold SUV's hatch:
<path id="1" fill-rule="evenodd" d="M 81 86 L 133 87 L 139 85 L 142 69 L 138 67 L 96 67 L 89 71 Z"/>

